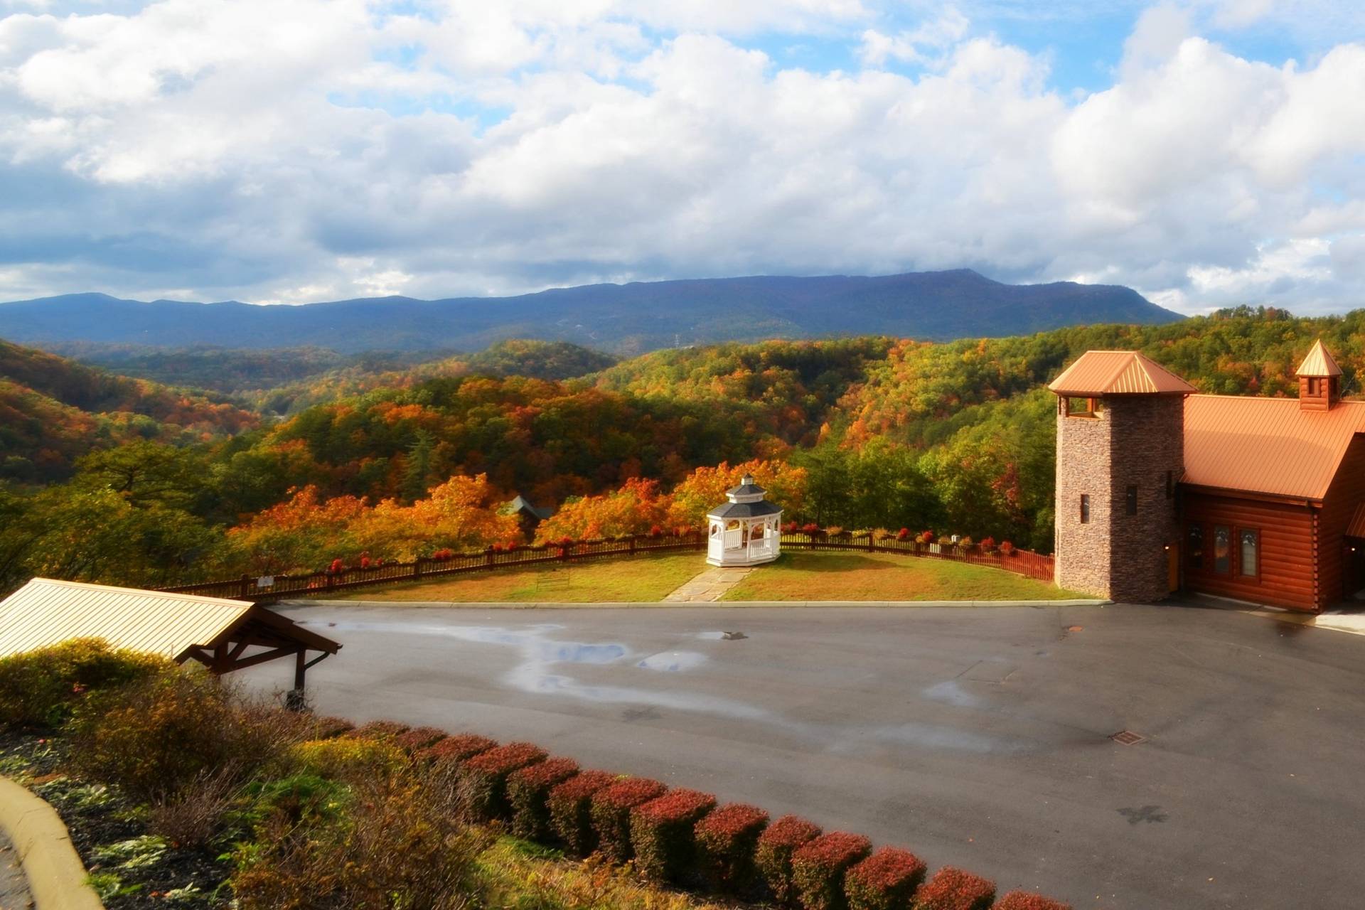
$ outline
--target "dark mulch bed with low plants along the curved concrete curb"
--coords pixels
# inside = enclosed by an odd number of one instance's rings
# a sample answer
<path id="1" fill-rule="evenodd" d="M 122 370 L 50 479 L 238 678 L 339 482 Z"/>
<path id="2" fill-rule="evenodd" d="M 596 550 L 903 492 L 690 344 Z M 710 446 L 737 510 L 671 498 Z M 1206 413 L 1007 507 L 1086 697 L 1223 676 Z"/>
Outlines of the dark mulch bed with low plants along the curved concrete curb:
<path id="1" fill-rule="evenodd" d="M 63 744 L 40 734 L 0 730 L 0 772 L 27 775 L 33 790 L 46 799 L 71 831 L 71 842 L 91 875 L 113 873 L 119 894 L 104 898 L 108 910 L 229 907 L 225 885 L 232 872 L 220 851 L 164 849 L 136 851 L 136 858 L 102 860 L 97 851 L 142 838 L 149 832 L 145 806 L 136 806 L 112 787 L 91 787 L 63 774 Z M 168 894 L 169 892 L 169 894 Z"/>

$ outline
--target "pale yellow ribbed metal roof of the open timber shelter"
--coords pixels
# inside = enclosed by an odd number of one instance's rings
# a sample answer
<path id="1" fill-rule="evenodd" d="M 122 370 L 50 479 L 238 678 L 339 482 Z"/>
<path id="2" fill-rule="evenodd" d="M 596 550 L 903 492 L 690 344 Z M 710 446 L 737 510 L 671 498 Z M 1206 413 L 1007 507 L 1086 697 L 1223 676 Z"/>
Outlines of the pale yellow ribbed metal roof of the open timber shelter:
<path id="1" fill-rule="evenodd" d="M 68 639 L 180 659 L 236 625 L 253 604 L 188 593 L 34 578 L 0 602 L 0 658 Z"/>

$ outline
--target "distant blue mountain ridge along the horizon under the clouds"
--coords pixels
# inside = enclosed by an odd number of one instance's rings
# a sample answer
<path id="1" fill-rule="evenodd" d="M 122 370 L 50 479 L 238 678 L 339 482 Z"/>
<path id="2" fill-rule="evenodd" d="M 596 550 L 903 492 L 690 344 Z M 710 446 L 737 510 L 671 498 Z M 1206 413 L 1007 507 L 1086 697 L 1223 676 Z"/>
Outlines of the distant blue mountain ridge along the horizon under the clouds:
<path id="1" fill-rule="evenodd" d="M 38 345 L 317 345 L 343 353 L 474 351 L 504 338 L 538 338 L 631 355 L 678 342 L 868 334 L 943 341 L 1181 318 L 1121 285 L 1010 285 L 958 269 L 597 284 L 515 297 L 371 297 L 306 306 L 142 303 L 76 293 L 0 304 L 0 333 Z"/>

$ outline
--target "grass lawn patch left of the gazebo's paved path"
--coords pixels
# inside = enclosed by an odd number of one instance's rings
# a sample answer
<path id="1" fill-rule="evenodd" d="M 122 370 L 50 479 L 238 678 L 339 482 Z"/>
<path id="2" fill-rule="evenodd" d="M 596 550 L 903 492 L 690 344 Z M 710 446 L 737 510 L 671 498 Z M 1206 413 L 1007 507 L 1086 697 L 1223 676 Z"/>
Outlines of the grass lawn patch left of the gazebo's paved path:
<path id="1" fill-rule="evenodd" d="M 418 584 L 360 588 L 343 600 L 450 603 L 629 603 L 662 600 L 706 569 L 706 554 L 609 557 L 588 562 L 471 572 Z"/>

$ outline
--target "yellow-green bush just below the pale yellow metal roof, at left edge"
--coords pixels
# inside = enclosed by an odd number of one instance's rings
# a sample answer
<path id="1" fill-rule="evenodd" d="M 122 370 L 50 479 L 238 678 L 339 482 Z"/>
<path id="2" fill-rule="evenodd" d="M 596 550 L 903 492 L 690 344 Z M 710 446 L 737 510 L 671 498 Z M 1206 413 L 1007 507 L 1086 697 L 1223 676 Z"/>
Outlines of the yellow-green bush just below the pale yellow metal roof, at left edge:
<path id="1" fill-rule="evenodd" d="M 0 723 L 56 727 L 86 693 L 175 673 L 171 660 L 74 639 L 0 660 Z"/>

